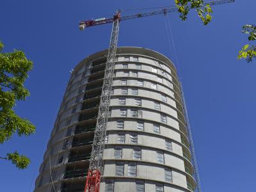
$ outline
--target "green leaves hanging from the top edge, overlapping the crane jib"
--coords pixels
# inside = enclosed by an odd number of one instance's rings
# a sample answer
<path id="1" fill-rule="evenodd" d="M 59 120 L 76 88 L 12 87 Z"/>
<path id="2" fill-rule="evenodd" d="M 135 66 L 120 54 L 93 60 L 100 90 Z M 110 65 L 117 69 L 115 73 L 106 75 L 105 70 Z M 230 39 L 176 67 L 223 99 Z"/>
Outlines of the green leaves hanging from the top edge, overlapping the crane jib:
<path id="1" fill-rule="evenodd" d="M 195 8 L 198 16 L 204 23 L 209 24 L 212 19 L 212 9 L 209 4 L 204 4 L 204 0 L 174 0 L 177 8 L 179 8 L 180 19 L 186 20 L 191 8 Z"/>

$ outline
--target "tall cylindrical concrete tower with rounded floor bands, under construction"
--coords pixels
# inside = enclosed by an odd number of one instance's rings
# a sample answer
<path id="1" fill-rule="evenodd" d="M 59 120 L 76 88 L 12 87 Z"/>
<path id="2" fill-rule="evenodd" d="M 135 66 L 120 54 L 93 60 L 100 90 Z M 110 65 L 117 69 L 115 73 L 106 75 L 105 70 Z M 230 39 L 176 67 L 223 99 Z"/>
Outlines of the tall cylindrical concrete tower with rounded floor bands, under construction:
<path id="1" fill-rule="evenodd" d="M 84 191 L 108 50 L 72 72 L 36 192 Z M 177 72 L 159 52 L 118 47 L 100 191 L 195 191 Z"/>

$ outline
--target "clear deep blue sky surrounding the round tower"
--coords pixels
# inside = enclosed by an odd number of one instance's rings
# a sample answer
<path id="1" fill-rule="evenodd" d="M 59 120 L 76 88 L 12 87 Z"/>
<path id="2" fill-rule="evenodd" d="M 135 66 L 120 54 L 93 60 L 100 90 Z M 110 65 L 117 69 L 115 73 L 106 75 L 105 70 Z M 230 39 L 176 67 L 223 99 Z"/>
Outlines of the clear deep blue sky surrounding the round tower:
<path id="1" fill-rule="evenodd" d="M 26 170 L 0 162 L 1 191 L 33 191 L 52 124 L 70 70 L 89 54 L 108 48 L 111 24 L 79 31 L 79 20 L 113 15 L 115 10 L 173 5 L 169 0 L 35 1 L 2 0 L 0 39 L 4 51 L 25 51 L 35 67 L 26 86 L 26 102 L 15 108 L 36 125 L 28 138 L 13 136 L 0 155 L 18 149 L 31 158 Z M 195 11 L 186 22 L 169 14 L 180 74 L 193 129 L 202 188 L 207 192 L 253 191 L 256 172 L 256 62 L 236 59 L 246 44 L 244 24 L 255 24 L 255 0 L 212 7 L 211 24 L 203 26 Z M 125 12 L 124 14 L 129 14 Z M 119 46 L 146 47 L 170 57 L 164 16 L 121 22 Z"/>

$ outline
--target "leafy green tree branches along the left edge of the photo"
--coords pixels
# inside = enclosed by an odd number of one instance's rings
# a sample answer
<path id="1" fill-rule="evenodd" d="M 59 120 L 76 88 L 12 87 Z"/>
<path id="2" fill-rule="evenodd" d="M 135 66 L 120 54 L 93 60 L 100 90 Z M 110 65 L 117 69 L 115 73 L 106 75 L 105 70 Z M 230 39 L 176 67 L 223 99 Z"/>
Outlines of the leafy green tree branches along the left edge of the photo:
<path id="1" fill-rule="evenodd" d="M 0 143 L 10 140 L 15 133 L 29 136 L 35 132 L 35 125 L 13 111 L 17 100 L 26 100 L 29 96 L 24 82 L 33 63 L 26 58 L 24 52 L 3 52 L 3 47 L 0 42 Z M 0 158 L 12 161 L 19 169 L 26 168 L 30 163 L 28 157 L 17 151 Z"/>

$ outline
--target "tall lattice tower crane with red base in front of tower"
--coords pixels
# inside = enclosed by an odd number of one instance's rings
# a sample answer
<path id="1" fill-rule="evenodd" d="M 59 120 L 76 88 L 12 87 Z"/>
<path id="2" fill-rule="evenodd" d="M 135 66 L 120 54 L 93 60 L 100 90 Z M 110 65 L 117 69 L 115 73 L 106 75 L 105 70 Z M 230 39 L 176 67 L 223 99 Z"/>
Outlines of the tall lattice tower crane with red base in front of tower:
<path id="1" fill-rule="evenodd" d="M 211 6 L 217 4 L 224 4 L 224 3 L 233 3 L 235 0 L 220 0 L 220 1 L 209 1 L 204 3 L 204 6 L 209 4 Z M 108 58 L 106 62 L 106 69 L 104 74 L 104 81 L 102 85 L 102 93 L 100 97 L 100 106 L 99 106 L 99 113 L 97 116 L 97 124 L 95 129 L 95 134 L 93 138 L 93 146 L 92 146 L 92 156 L 90 158 L 90 165 L 88 169 L 88 174 L 86 177 L 86 185 L 84 192 L 99 192 L 100 190 L 100 178 L 102 176 L 103 171 L 103 151 L 104 151 L 104 143 L 106 138 L 106 127 L 108 123 L 108 111 L 109 111 L 109 102 L 111 97 L 111 88 L 113 82 L 113 72 L 115 68 L 115 59 L 116 59 L 116 47 L 118 41 L 118 31 L 119 31 L 119 24 L 122 20 L 129 20 L 129 19 L 137 19 L 141 17 L 147 17 L 152 15 L 160 15 L 170 12 L 178 12 L 178 8 L 176 6 L 167 6 L 161 10 L 154 10 L 150 12 L 143 12 L 143 13 L 136 13 L 133 15 L 125 15 L 121 16 L 121 11 L 118 10 L 115 15 L 111 18 L 100 18 L 95 20 L 84 20 L 79 22 L 79 29 L 84 30 L 91 26 L 98 26 L 101 24 L 108 24 L 113 23 L 111 38 L 109 43 L 109 51 L 108 51 Z M 180 90 L 182 87 L 180 86 Z M 182 92 L 182 99 L 184 101 L 184 96 Z M 186 104 L 184 102 L 184 113 L 186 116 L 186 129 L 188 130 L 188 138 L 192 153 L 192 164 L 195 168 L 195 180 L 196 180 L 196 188 L 198 192 L 201 192 L 202 189 L 200 188 L 200 179 L 198 175 L 198 168 L 196 164 L 196 157 L 195 157 L 195 150 L 193 147 L 193 140 L 191 135 L 191 129 L 189 126 L 188 120 L 188 113 L 186 110 Z"/>

